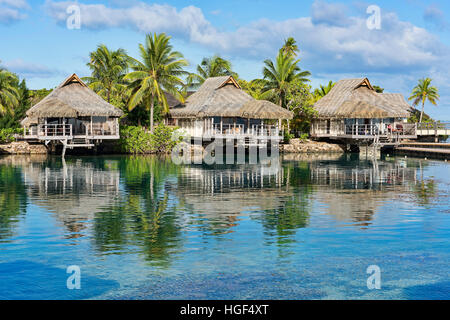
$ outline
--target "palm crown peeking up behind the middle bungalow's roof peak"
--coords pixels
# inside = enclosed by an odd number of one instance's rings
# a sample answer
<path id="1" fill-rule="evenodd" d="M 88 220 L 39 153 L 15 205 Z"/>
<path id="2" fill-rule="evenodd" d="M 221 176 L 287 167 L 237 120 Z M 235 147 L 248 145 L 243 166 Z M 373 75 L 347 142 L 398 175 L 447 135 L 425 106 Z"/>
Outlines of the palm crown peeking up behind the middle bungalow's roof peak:
<path id="1" fill-rule="evenodd" d="M 211 58 L 203 58 L 202 62 L 197 65 L 197 73 L 189 74 L 187 82 L 189 87 L 198 88 L 208 78 L 231 75 L 237 76 L 231 70 L 231 62 L 215 55 Z"/>

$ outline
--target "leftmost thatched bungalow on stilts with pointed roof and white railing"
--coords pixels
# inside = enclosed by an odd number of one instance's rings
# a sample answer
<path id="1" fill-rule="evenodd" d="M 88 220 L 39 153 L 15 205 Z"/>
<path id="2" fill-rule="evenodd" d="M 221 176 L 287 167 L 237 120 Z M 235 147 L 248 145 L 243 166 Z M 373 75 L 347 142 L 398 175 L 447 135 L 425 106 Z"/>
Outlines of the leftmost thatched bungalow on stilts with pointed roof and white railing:
<path id="1" fill-rule="evenodd" d="M 103 100 L 72 74 L 22 120 L 26 140 L 66 148 L 94 147 L 103 140 L 119 139 L 122 110 Z"/>

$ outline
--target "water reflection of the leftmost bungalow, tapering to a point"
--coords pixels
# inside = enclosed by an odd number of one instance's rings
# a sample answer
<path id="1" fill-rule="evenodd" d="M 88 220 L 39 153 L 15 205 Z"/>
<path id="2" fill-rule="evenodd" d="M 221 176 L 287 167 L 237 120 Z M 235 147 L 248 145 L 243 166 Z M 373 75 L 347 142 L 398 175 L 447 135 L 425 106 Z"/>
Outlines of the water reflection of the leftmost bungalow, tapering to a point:
<path id="1" fill-rule="evenodd" d="M 44 169 L 44 159 L 22 161 L 24 183 L 32 203 L 53 212 L 69 231 L 70 238 L 86 234 L 89 221 L 117 201 L 120 172 L 95 168 L 78 160 L 61 168 Z M 115 167 L 106 160 L 105 166 Z"/>

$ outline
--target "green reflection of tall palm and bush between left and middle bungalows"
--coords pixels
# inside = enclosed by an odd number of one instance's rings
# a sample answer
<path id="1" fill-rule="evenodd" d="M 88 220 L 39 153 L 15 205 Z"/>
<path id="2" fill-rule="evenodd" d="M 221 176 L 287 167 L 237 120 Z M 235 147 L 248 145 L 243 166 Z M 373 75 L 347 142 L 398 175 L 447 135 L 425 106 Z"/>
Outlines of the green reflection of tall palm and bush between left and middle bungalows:
<path id="1" fill-rule="evenodd" d="M 166 187 L 178 168 L 161 158 L 130 157 L 120 160 L 119 170 L 124 195 L 96 214 L 95 244 L 105 254 L 137 244 L 146 259 L 166 267 L 181 242 L 179 217 L 176 208 L 168 207 Z"/>

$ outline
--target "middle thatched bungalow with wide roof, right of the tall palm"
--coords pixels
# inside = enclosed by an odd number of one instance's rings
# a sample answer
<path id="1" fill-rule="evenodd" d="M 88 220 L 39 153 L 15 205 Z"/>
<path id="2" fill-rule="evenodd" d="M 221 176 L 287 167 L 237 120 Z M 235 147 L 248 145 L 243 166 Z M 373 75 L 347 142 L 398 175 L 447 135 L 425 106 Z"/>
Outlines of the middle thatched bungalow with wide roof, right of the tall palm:
<path id="1" fill-rule="evenodd" d="M 232 76 L 224 76 L 206 79 L 185 103 L 172 106 L 166 123 L 192 138 L 264 147 L 281 140 L 281 120 L 292 117 L 291 111 L 252 98 Z"/>

